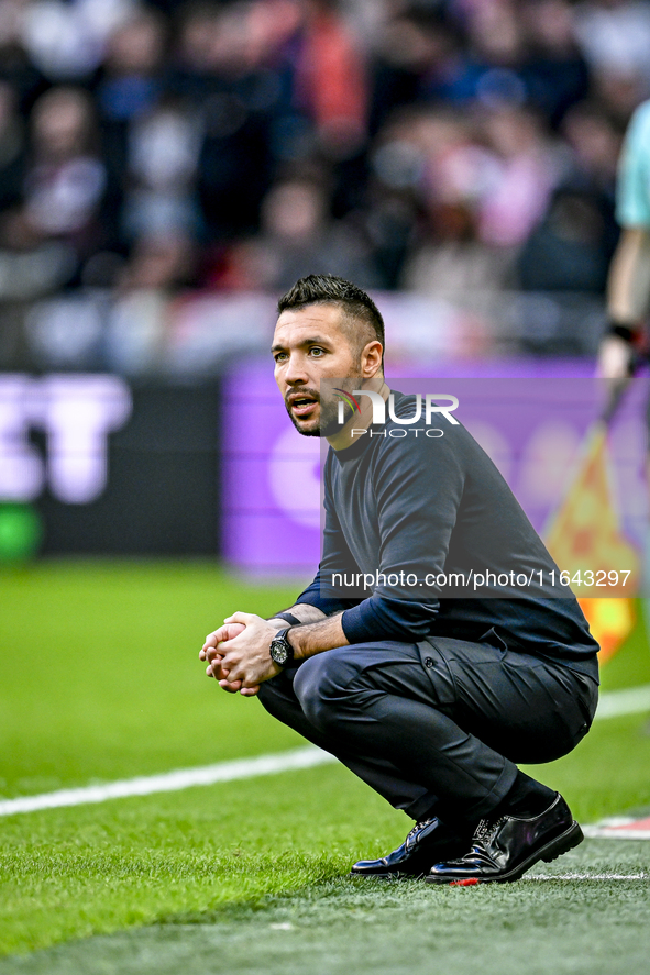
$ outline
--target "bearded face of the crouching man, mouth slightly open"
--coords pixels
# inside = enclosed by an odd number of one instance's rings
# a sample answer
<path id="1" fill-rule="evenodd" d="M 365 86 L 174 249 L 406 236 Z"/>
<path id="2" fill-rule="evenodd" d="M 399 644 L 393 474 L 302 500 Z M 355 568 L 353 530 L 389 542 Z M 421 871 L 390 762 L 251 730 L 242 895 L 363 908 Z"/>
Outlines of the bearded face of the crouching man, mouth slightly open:
<path id="1" fill-rule="evenodd" d="M 328 436 L 341 429 L 339 400 L 331 395 L 321 400 L 320 380 L 362 376 L 360 356 L 342 330 L 342 315 L 337 304 L 308 304 L 283 311 L 275 326 L 275 381 L 304 436 Z"/>

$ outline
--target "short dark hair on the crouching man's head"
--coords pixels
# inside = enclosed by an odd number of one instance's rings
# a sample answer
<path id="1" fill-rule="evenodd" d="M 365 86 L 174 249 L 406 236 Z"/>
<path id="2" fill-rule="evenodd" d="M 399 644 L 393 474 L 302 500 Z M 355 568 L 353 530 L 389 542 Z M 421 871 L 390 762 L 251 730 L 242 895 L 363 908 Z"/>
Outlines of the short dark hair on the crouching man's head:
<path id="1" fill-rule="evenodd" d="M 373 299 L 351 281 L 333 274 L 310 274 L 296 281 L 277 302 L 277 313 L 308 304 L 338 304 L 343 310 L 349 330 L 359 352 L 367 342 L 376 339 L 385 347 L 384 319 Z M 359 323 L 365 328 L 359 330 Z M 383 357 L 382 357 L 383 361 Z"/>

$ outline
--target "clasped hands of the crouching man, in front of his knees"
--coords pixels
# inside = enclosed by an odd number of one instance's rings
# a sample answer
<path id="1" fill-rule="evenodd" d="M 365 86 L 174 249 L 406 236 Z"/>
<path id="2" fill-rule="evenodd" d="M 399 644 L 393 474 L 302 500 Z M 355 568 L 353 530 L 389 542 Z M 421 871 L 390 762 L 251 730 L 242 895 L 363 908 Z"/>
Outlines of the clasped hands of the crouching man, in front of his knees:
<path id="1" fill-rule="evenodd" d="M 206 638 L 199 660 L 207 661 L 206 674 L 230 694 L 254 697 L 260 685 L 282 669 L 271 660 L 268 647 L 277 632 L 262 617 L 235 612 Z"/>

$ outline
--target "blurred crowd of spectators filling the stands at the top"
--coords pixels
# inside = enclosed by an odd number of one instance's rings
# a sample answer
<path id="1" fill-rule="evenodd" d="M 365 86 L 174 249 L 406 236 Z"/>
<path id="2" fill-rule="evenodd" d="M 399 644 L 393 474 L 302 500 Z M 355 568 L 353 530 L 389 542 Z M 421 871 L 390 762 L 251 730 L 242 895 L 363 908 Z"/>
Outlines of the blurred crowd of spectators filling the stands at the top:
<path id="1" fill-rule="evenodd" d="M 602 293 L 648 0 L 0 0 L 0 299 Z"/>

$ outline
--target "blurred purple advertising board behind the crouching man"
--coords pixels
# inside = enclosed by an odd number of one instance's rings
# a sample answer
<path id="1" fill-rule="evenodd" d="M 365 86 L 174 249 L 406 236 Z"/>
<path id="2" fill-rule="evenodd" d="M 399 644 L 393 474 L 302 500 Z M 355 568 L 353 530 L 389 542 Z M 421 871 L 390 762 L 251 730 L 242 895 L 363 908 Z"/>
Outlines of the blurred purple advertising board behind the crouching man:
<path id="1" fill-rule="evenodd" d="M 544 534 L 605 402 L 585 361 L 401 363 L 387 377 L 404 392 L 458 397 L 455 416 L 493 458 Z M 418 390 L 418 380 L 422 389 Z M 426 383 L 425 383 L 426 380 Z M 635 379 L 610 424 L 612 489 L 621 528 L 640 550 L 647 521 L 648 379 Z M 268 361 L 240 362 L 224 380 L 222 544 L 253 574 L 313 574 L 320 556 L 321 451 L 290 423 Z"/>

